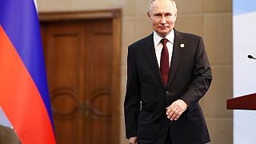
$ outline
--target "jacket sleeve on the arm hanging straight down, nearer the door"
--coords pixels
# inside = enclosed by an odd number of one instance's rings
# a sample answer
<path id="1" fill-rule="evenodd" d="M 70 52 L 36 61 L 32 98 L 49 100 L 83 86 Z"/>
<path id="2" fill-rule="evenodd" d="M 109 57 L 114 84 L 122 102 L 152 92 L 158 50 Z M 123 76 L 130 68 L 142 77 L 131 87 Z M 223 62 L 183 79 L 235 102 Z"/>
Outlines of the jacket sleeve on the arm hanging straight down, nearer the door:
<path id="1" fill-rule="evenodd" d="M 140 111 L 140 83 L 134 62 L 133 51 L 128 48 L 126 98 L 124 102 L 126 138 L 137 136 L 138 114 Z"/>

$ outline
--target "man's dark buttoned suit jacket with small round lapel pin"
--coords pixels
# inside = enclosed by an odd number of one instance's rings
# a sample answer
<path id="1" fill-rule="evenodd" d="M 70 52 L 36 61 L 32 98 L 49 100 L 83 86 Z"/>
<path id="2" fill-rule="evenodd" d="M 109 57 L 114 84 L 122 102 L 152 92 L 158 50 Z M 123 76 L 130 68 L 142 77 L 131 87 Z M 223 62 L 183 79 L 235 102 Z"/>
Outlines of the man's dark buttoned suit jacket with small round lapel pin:
<path id="1" fill-rule="evenodd" d="M 174 30 L 174 50 L 167 86 L 164 86 L 154 50 L 153 34 L 128 48 L 124 102 L 126 138 L 141 144 L 163 144 L 167 134 L 173 144 L 210 142 L 198 101 L 212 79 L 202 38 Z M 182 48 L 180 45 L 184 44 Z M 166 118 L 166 107 L 177 99 L 189 107 L 178 121 Z M 168 133 L 170 130 L 170 133 Z"/>

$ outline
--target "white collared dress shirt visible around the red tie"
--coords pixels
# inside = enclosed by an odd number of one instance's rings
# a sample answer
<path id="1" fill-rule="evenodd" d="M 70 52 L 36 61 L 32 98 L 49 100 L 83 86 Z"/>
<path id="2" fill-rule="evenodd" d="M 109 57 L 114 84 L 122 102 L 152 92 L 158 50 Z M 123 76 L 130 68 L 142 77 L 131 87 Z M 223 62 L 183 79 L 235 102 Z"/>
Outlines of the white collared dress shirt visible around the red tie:
<path id="1" fill-rule="evenodd" d="M 155 50 L 155 54 L 157 56 L 158 59 L 158 66 L 160 68 L 160 59 L 161 59 L 161 52 L 162 52 L 162 43 L 160 42 L 162 37 L 160 37 L 155 31 L 154 31 L 154 50 Z M 170 66 L 170 61 L 171 61 L 171 57 L 173 54 L 173 50 L 174 50 L 174 29 L 170 31 L 170 34 L 168 34 L 166 36 L 166 39 L 168 39 L 168 42 L 166 43 L 167 49 L 168 49 L 168 53 L 169 53 L 169 66 Z"/>

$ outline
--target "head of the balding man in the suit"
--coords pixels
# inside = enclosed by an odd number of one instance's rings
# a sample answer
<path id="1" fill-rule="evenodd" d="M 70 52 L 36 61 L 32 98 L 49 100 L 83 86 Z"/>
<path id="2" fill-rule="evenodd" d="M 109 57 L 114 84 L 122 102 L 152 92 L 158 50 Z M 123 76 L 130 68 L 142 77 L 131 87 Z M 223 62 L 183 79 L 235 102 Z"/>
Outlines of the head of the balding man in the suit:
<path id="1" fill-rule="evenodd" d="M 177 11 L 169 0 L 157 0 L 151 3 L 147 15 L 154 31 L 161 37 L 166 37 L 174 28 Z"/>

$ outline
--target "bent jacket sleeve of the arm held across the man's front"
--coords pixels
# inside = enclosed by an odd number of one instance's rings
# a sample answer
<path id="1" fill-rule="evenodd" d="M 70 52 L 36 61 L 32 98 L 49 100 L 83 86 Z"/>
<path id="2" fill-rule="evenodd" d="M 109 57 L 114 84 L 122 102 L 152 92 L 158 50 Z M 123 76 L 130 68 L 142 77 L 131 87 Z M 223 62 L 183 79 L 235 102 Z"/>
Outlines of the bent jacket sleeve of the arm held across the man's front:
<path id="1" fill-rule="evenodd" d="M 212 74 L 202 38 L 198 39 L 198 47 L 194 56 L 192 82 L 181 99 L 189 105 L 189 110 L 197 104 L 210 87 Z"/>

